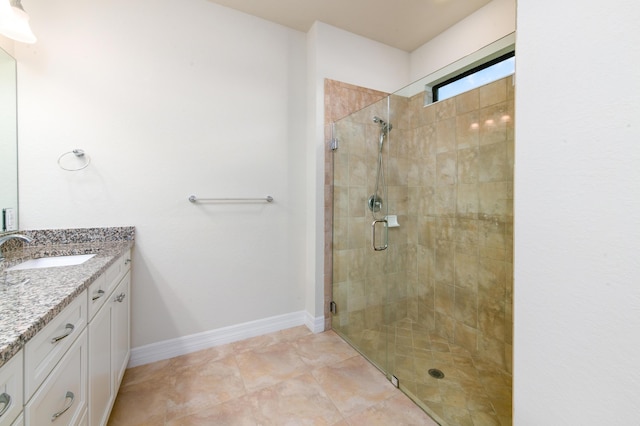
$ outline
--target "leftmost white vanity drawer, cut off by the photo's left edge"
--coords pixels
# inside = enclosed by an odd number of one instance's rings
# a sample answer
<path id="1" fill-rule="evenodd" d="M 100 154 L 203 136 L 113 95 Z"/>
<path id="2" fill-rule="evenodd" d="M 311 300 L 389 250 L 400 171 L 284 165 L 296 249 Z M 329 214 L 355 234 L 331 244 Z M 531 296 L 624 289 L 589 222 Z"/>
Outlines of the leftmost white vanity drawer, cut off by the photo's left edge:
<path id="1" fill-rule="evenodd" d="M 11 425 L 22 412 L 22 351 L 0 368 L 0 426 Z"/>

